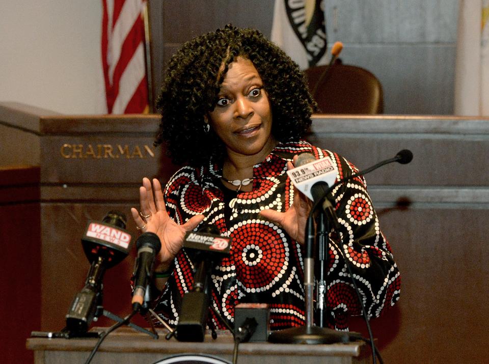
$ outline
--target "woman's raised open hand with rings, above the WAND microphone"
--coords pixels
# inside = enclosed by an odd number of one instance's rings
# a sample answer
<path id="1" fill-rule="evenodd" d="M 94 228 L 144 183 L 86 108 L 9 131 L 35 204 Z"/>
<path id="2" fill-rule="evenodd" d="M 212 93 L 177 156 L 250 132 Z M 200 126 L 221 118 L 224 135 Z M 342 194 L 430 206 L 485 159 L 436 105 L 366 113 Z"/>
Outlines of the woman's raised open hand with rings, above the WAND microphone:
<path id="1" fill-rule="evenodd" d="M 153 194 L 154 192 L 154 194 Z M 182 247 L 185 233 L 194 230 L 204 219 L 204 215 L 196 215 L 178 225 L 168 216 L 161 184 L 154 178 L 153 184 L 148 178 L 143 178 L 143 185 L 139 188 L 141 214 L 131 208 L 132 218 L 142 232 L 158 235 L 161 241 L 161 250 L 157 255 L 155 271 L 168 270 L 178 251 Z M 143 219 L 144 216 L 150 215 Z"/>

